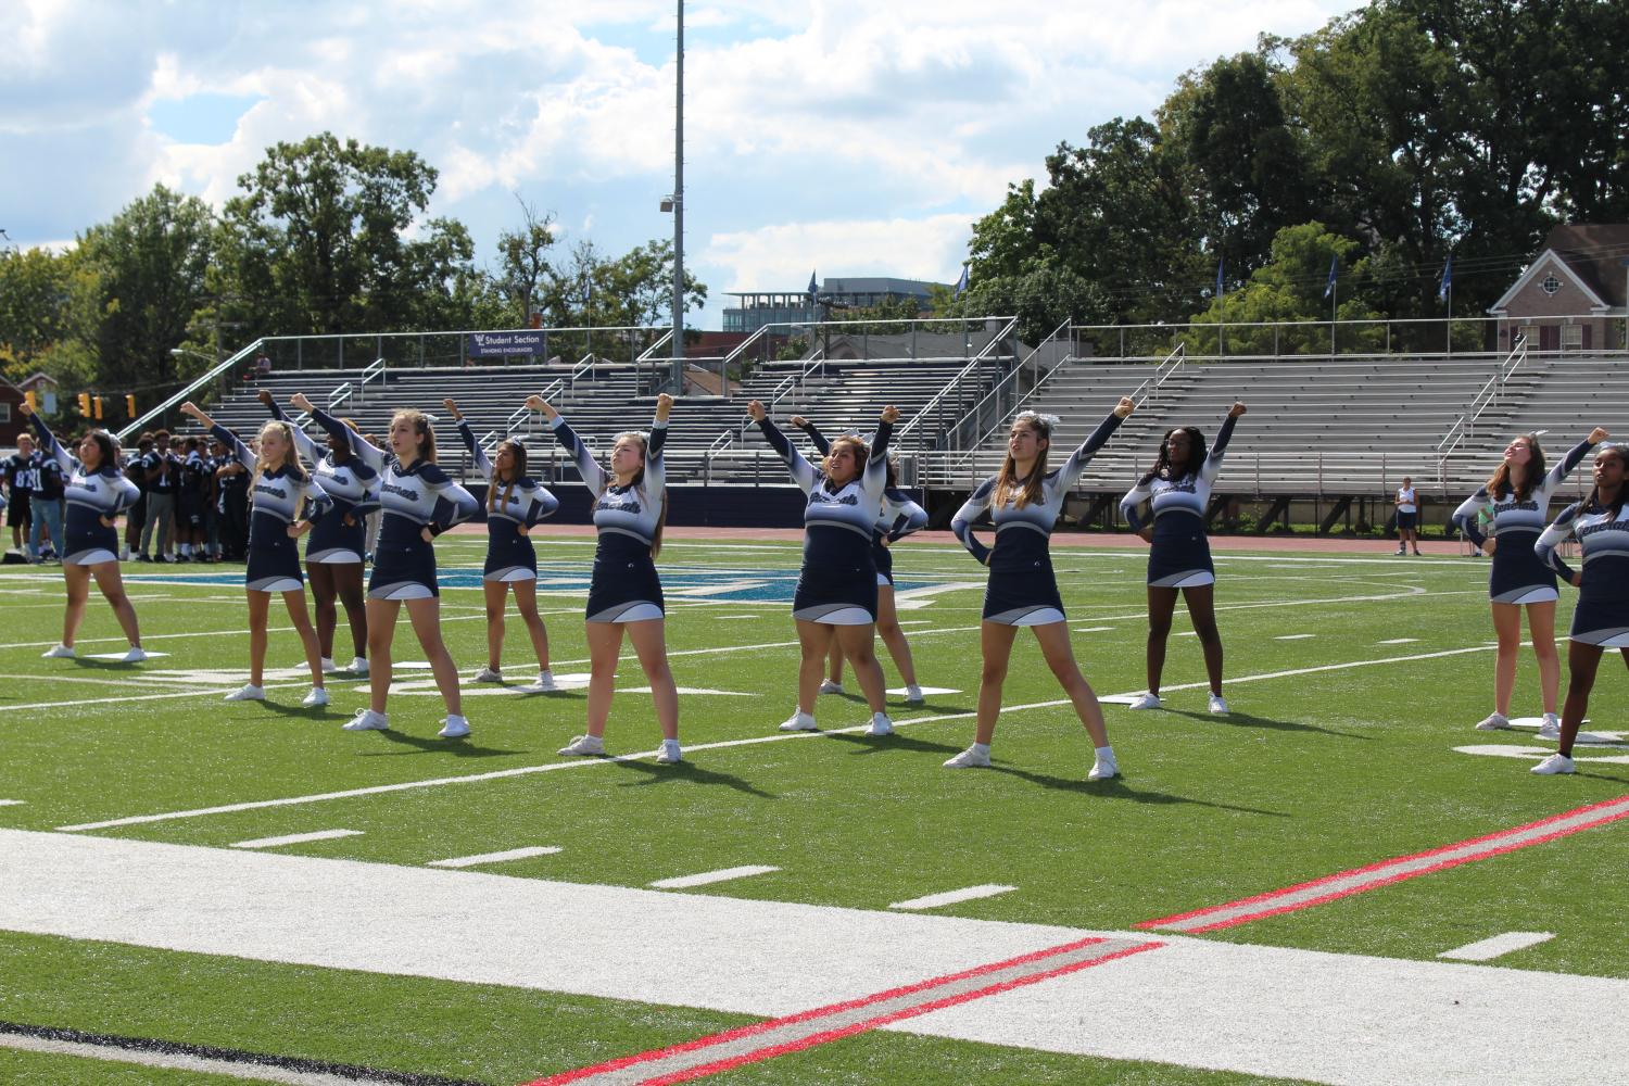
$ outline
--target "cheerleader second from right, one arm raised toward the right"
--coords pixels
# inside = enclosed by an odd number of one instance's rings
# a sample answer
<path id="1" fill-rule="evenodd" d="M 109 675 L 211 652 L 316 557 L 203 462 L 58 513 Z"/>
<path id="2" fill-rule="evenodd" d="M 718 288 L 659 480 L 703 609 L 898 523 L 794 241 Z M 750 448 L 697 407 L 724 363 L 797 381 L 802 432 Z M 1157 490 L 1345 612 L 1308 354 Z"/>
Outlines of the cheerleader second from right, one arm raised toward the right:
<path id="1" fill-rule="evenodd" d="M 1481 550 L 1494 558 L 1487 594 L 1494 612 L 1494 712 L 1476 725 L 1479 731 L 1510 726 L 1510 695 L 1517 685 L 1517 655 L 1521 650 L 1521 609 L 1526 607 L 1533 655 L 1538 656 L 1539 695 L 1544 720 L 1539 736 L 1561 734 L 1556 715 L 1556 690 L 1561 685 L 1561 659 L 1556 655 L 1556 575 L 1539 562 L 1535 544 L 1549 519 L 1549 501 L 1590 449 L 1606 438 L 1596 427 L 1579 444 L 1567 449 L 1561 464 L 1544 471 L 1544 449 L 1536 433 L 1523 433 L 1505 446 L 1505 458 L 1486 485 L 1453 511 L 1453 523 Z M 1492 531 L 1484 534 L 1478 515 L 1487 513 Z"/>

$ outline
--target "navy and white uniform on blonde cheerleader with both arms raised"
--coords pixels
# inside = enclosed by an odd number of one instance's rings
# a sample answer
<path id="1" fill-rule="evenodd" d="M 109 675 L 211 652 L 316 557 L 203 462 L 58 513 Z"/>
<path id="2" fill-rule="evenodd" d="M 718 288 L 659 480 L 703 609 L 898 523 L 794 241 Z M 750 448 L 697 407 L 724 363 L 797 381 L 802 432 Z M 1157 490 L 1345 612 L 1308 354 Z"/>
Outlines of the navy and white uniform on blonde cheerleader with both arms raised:
<path id="1" fill-rule="evenodd" d="M 656 563 L 650 549 L 661 524 L 661 505 L 668 487 L 668 466 L 661 446 L 668 441 L 668 423 L 650 425 L 645 441 L 645 477 L 619 485 L 606 474 L 583 440 L 555 415 L 549 420 L 554 438 L 572 454 L 577 474 L 595 498 L 595 573 L 588 585 L 590 622 L 645 622 L 661 619 L 665 599 Z"/>

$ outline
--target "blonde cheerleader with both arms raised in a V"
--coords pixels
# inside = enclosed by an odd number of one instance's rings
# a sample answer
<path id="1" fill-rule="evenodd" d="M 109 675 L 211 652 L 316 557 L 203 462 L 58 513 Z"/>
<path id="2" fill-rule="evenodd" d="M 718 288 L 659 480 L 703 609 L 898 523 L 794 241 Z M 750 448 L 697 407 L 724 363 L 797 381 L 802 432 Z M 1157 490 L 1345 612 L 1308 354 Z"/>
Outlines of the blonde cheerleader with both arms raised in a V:
<path id="1" fill-rule="evenodd" d="M 555 440 L 565 448 L 577 472 L 595 498 L 595 571 L 588 588 L 588 734 L 577 736 L 560 754 L 596 755 L 606 752 L 606 718 L 616 685 L 616 661 L 622 633 L 639 655 L 639 666 L 650 681 L 650 695 L 661 726 L 656 760 L 671 765 L 679 752 L 679 692 L 668 668 L 666 622 L 656 555 L 661 554 L 661 526 L 668 516 L 668 471 L 661 446 L 668 440 L 673 397 L 656 397 L 656 420 L 650 433 L 630 430 L 611 446 L 611 474 L 595 461 L 560 412 L 541 396 L 526 407 L 542 412 Z"/>

